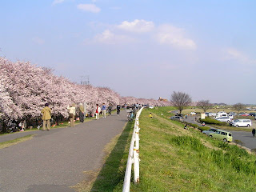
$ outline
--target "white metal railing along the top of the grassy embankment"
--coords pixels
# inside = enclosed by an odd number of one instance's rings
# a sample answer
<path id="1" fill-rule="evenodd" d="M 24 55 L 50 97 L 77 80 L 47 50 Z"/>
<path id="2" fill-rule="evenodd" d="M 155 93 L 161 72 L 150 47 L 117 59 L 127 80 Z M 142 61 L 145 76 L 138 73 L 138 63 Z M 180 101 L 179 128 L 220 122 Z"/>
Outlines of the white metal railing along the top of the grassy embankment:
<path id="1" fill-rule="evenodd" d="M 140 114 L 142 113 L 143 107 L 138 110 L 134 122 L 134 132 L 130 141 L 130 149 L 128 154 L 128 161 L 126 164 L 126 174 L 125 179 L 122 186 L 122 192 L 128 192 L 130 191 L 130 176 L 131 176 L 131 166 L 134 164 L 134 183 L 139 182 L 139 122 L 138 118 Z M 134 146 L 135 143 L 135 146 Z"/>

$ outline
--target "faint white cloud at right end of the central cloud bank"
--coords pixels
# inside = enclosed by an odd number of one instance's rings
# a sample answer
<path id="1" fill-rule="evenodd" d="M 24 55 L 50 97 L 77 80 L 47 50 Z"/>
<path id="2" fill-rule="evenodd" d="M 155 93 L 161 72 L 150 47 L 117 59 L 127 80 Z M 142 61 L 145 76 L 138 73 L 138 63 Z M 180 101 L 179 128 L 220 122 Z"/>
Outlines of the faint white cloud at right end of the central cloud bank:
<path id="1" fill-rule="evenodd" d="M 184 30 L 175 26 L 159 26 L 156 38 L 160 44 L 169 44 L 170 46 L 186 50 L 197 49 L 197 45 L 192 39 L 185 38 Z"/>

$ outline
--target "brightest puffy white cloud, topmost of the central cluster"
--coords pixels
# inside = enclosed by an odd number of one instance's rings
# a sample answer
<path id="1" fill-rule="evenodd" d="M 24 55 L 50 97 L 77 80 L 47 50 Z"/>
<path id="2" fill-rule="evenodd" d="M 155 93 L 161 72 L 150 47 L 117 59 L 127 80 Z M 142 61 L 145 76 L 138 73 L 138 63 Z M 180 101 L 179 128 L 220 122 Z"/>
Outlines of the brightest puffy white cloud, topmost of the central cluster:
<path id="1" fill-rule="evenodd" d="M 134 22 L 122 22 L 121 25 L 118 25 L 118 28 L 135 33 L 149 32 L 154 29 L 154 22 L 135 19 Z"/>

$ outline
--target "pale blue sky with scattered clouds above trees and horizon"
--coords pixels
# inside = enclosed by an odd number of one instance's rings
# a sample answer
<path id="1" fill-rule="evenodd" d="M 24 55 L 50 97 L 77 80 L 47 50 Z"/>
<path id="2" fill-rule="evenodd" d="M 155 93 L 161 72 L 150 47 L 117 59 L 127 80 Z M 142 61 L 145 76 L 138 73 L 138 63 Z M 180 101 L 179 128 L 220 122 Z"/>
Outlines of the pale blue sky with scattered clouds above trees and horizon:
<path id="1" fill-rule="evenodd" d="M 0 56 L 122 96 L 256 103 L 256 1 L 0 0 Z"/>

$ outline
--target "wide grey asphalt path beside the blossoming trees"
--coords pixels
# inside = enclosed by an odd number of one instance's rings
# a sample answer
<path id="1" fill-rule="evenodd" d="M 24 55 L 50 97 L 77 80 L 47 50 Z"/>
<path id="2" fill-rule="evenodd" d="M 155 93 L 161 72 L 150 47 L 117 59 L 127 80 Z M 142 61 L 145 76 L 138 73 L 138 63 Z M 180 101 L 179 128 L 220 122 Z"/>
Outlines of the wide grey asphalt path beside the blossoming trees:
<path id="1" fill-rule="evenodd" d="M 0 150 L 1 192 L 71 192 L 84 171 L 102 167 L 104 147 L 126 125 L 126 111 L 74 127 L 0 136 L 0 142 L 36 134 Z"/>

